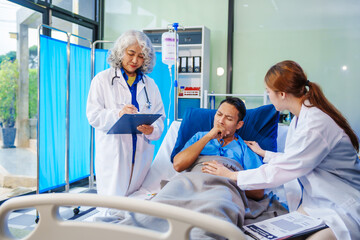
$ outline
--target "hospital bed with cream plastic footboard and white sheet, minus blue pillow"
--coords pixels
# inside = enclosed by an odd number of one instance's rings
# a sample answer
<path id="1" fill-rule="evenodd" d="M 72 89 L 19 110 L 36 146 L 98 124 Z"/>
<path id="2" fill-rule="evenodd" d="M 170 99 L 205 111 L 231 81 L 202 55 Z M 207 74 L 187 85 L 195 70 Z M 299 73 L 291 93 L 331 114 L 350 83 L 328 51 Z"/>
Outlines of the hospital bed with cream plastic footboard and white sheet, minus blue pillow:
<path id="1" fill-rule="evenodd" d="M 203 110 L 201 110 L 203 111 Z M 200 111 L 200 113 L 201 113 Z M 208 110 L 205 110 L 208 111 Z M 200 114 L 203 115 L 202 113 Z M 191 119 L 192 116 L 189 118 Z M 196 120 L 196 119 L 193 119 Z M 277 120 L 277 119 L 275 119 Z M 204 122 L 204 121 L 202 121 Z M 160 146 L 158 154 L 139 191 L 130 197 L 105 197 L 96 194 L 40 194 L 10 199 L 0 207 L 0 239 L 14 239 L 8 229 L 9 214 L 17 209 L 36 208 L 40 221 L 34 231 L 24 239 L 188 239 L 192 228 L 198 227 L 227 239 L 245 239 L 245 235 L 234 224 L 176 206 L 145 201 L 161 189 L 162 181 L 170 180 L 178 173 L 169 161 L 174 146 L 178 145 L 182 126 L 186 121 L 174 121 Z M 255 124 L 256 123 L 253 123 Z M 277 123 L 276 123 L 277 125 Z M 180 129 L 180 131 L 179 131 Z M 285 136 L 286 127 L 276 129 L 276 136 Z M 284 139 L 277 139 L 283 148 Z M 139 212 L 167 219 L 169 229 L 156 232 L 134 226 L 107 224 L 103 222 L 79 222 L 61 219 L 62 206 L 94 206 Z"/>

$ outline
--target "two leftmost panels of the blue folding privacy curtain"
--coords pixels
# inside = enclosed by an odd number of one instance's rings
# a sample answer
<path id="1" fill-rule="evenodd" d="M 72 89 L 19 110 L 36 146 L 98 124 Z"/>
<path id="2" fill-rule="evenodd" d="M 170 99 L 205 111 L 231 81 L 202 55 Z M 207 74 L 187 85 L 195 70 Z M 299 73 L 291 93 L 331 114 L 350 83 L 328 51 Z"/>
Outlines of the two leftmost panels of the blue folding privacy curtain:
<path id="1" fill-rule="evenodd" d="M 40 36 L 39 192 L 64 186 L 67 43 Z M 86 101 L 91 50 L 70 46 L 69 183 L 90 175 L 90 125 Z"/>

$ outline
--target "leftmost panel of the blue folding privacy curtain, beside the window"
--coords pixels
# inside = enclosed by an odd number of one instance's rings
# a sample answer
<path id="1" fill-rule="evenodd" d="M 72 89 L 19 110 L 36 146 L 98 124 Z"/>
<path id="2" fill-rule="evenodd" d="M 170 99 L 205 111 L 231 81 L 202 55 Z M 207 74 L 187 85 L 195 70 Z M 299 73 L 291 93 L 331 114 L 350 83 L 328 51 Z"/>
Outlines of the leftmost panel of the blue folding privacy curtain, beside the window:
<path id="1" fill-rule="evenodd" d="M 66 42 L 40 36 L 40 193 L 65 185 L 66 46 Z"/>

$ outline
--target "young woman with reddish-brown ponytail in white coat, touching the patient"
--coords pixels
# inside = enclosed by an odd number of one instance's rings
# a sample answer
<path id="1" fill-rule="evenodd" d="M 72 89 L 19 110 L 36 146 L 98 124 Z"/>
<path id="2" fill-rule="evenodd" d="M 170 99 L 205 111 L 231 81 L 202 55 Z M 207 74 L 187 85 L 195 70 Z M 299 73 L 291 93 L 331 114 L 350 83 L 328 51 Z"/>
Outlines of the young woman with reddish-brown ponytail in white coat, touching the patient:
<path id="1" fill-rule="evenodd" d="M 208 163 L 203 172 L 229 177 L 243 190 L 272 188 L 298 179 L 300 197 L 288 202 L 290 211 L 321 218 L 329 226 L 309 239 L 360 239 L 358 137 L 297 63 L 274 65 L 265 84 L 276 109 L 294 114 L 284 153 L 264 151 L 256 142 L 247 142 L 264 157 L 264 165 L 231 172 Z"/>

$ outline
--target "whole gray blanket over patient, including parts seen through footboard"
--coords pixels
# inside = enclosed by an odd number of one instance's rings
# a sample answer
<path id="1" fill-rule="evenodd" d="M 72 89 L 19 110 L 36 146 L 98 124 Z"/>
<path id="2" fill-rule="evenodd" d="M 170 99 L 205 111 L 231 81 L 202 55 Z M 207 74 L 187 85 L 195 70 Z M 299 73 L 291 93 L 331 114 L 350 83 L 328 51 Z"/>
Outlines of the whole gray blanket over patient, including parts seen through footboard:
<path id="1" fill-rule="evenodd" d="M 202 173 L 202 163 L 211 160 L 216 160 L 234 171 L 242 170 L 241 165 L 235 160 L 221 156 L 200 156 L 190 169 L 171 179 L 151 201 L 209 214 L 239 227 L 244 225 L 245 216 L 256 220 L 267 211 L 271 199 L 264 198 L 264 201 L 260 202 L 248 200 L 236 182 Z M 271 212 L 270 215 L 272 214 Z M 168 229 L 166 220 L 139 213 L 129 213 L 125 219 L 117 222 L 157 231 Z M 222 238 L 201 229 L 193 229 L 191 239 Z"/>

